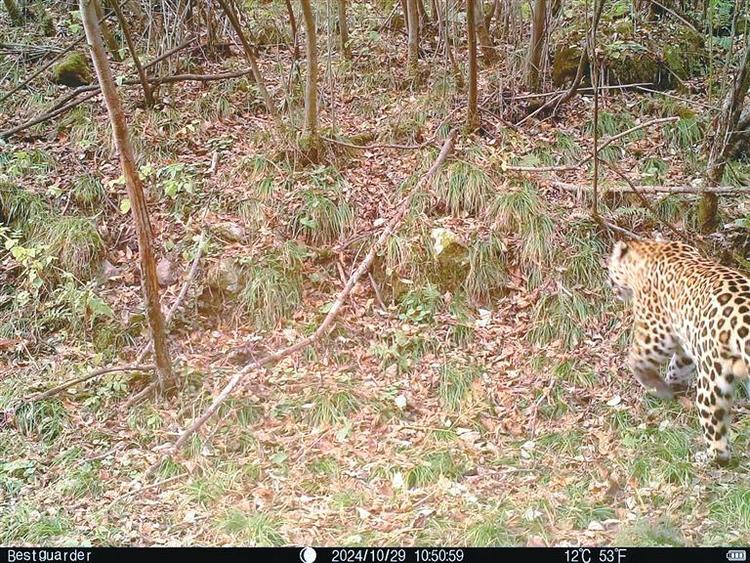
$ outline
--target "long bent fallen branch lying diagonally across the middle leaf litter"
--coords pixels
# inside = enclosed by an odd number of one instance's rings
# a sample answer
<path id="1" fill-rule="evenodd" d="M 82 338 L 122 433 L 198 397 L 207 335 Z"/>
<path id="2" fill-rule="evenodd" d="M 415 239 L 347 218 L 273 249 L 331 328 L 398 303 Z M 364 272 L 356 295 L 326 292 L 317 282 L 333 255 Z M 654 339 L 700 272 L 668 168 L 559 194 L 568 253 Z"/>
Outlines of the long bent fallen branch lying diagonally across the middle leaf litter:
<path id="1" fill-rule="evenodd" d="M 229 394 L 234 390 L 234 388 L 237 386 L 237 384 L 242 380 L 242 378 L 250 373 L 254 369 L 258 369 L 260 367 L 266 366 L 268 364 L 276 363 L 279 360 L 282 360 L 283 358 L 286 358 L 287 356 L 290 356 L 294 354 L 295 352 L 298 352 L 299 350 L 302 350 L 303 348 L 306 348 L 310 344 L 313 344 L 317 340 L 319 340 L 326 332 L 328 331 L 331 324 L 333 324 L 333 321 L 338 316 L 339 312 L 341 311 L 341 308 L 343 307 L 344 303 L 346 302 L 347 298 L 349 297 L 349 294 L 352 292 L 354 287 L 357 285 L 357 282 L 359 282 L 359 279 L 367 273 L 370 266 L 372 265 L 373 260 L 375 259 L 375 256 L 380 250 L 380 248 L 385 244 L 386 240 L 388 240 L 388 237 L 390 237 L 393 232 L 396 230 L 396 227 L 401 223 L 401 220 L 404 218 L 406 213 L 409 210 L 409 203 L 411 202 L 412 196 L 416 194 L 419 190 L 422 189 L 422 187 L 429 182 L 437 173 L 437 171 L 440 169 L 442 164 L 445 162 L 445 160 L 448 158 L 448 155 L 453 150 L 453 145 L 456 140 L 456 131 L 453 130 L 448 135 L 448 138 L 445 140 L 445 143 L 443 144 L 442 149 L 440 150 L 440 154 L 438 155 L 437 159 L 435 159 L 435 162 L 432 164 L 430 169 L 427 171 L 427 173 L 422 176 L 419 181 L 416 183 L 414 188 L 411 192 L 401 201 L 401 203 L 398 204 L 396 207 L 396 211 L 393 214 L 393 217 L 391 217 L 391 220 L 388 221 L 388 224 L 385 226 L 383 231 L 380 233 L 380 236 L 377 238 L 377 240 L 373 243 L 372 247 L 370 248 L 370 251 L 367 253 L 367 256 L 360 262 L 357 269 L 354 271 L 354 273 L 349 277 L 349 280 L 347 281 L 344 288 L 339 292 L 339 294 L 336 296 L 336 299 L 333 302 L 333 305 L 328 311 L 328 314 L 326 315 L 325 319 L 323 319 L 323 322 L 320 323 L 317 329 L 315 329 L 315 332 L 313 332 L 310 336 L 307 336 L 301 340 L 298 340 L 296 343 L 292 344 L 291 346 L 288 346 L 286 348 L 283 348 L 281 350 L 278 350 L 272 354 L 268 354 L 267 356 L 263 356 L 262 358 L 259 358 L 255 361 L 250 362 L 249 364 L 245 365 L 240 371 L 238 371 L 232 378 L 229 380 L 229 382 L 224 386 L 224 388 L 221 390 L 221 392 L 216 396 L 213 403 L 211 403 L 211 406 L 209 406 L 204 413 L 198 417 L 193 423 L 180 435 L 180 437 L 175 442 L 174 446 L 171 448 L 171 451 L 166 454 L 166 457 L 169 457 L 170 455 L 173 455 L 177 453 L 182 446 L 185 445 L 187 440 L 195 434 L 195 432 L 205 424 L 205 422 L 213 416 L 217 410 L 219 410 L 219 407 L 221 404 L 226 400 L 226 398 L 229 396 Z M 151 475 L 156 469 L 161 465 L 162 461 L 165 458 L 162 458 L 159 460 L 156 464 L 151 466 L 151 468 L 147 471 L 147 475 Z"/>

